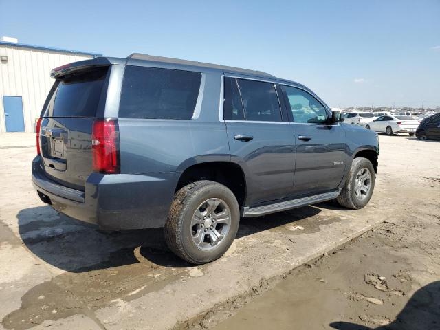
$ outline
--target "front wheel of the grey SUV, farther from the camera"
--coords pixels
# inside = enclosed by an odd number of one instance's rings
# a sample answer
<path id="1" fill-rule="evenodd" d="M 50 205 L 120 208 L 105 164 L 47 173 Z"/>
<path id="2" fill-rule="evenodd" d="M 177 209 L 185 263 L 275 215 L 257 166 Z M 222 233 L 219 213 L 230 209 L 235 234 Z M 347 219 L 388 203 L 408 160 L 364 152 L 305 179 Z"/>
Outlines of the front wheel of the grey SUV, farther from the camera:
<path id="1" fill-rule="evenodd" d="M 373 164 L 364 157 L 353 159 L 347 181 L 337 198 L 340 206 L 358 210 L 369 203 L 373 195 L 375 171 Z"/>

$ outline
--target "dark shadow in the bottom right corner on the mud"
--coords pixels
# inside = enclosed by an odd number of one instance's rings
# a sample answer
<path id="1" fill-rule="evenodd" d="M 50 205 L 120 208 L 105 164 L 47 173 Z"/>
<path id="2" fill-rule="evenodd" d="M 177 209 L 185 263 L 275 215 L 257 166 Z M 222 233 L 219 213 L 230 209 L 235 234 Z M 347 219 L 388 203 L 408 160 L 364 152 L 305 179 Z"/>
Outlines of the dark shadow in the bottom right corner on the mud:
<path id="1" fill-rule="evenodd" d="M 351 322 L 333 322 L 330 326 L 339 330 L 440 329 L 440 281 L 418 289 L 389 325 L 371 328 Z"/>

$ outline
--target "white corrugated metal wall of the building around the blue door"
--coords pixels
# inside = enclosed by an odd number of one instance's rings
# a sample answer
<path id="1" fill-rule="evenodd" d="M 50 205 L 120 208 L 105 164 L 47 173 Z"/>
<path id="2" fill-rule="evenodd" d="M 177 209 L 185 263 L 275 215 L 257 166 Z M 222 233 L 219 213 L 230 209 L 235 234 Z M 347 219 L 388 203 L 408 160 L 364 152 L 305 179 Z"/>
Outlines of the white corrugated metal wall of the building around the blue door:
<path id="1" fill-rule="evenodd" d="M 0 132 L 5 132 L 5 117 L 2 96 L 23 98 L 25 131 L 34 131 L 35 119 L 54 79 L 50 71 L 60 65 L 93 58 L 91 55 L 71 54 L 51 50 L 0 45 L 0 55 L 8 61 L 0 61 Z"/>

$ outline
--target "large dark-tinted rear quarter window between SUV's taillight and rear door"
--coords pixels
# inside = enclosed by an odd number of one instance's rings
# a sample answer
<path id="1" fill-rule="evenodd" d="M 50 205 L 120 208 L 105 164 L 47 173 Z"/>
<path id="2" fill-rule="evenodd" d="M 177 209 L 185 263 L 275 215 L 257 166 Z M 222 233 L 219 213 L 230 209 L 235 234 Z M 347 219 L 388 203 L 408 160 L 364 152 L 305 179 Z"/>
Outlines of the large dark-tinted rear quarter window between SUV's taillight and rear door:
<path id="1" fill-rule="evenodd" d="M 127 65 L 119 117 L 191 119 L 200 81 L 200 72 Z"/>

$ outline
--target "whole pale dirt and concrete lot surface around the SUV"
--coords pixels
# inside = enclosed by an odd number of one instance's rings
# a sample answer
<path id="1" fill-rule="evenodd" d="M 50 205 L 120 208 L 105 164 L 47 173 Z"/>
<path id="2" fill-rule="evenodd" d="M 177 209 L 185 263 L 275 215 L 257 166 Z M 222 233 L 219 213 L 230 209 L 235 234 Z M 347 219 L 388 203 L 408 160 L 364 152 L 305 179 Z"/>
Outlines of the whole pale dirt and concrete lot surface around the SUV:
<path id="1" fill-rule="evenodd" d="M 193 267 L 166 250 L 162 230 L 106 234 L 45 206 L 30 183 L 33 142 L 12 148 L 11 136 L 0 135 L 0 329 L 377 327 L 439 280 L 439 142 L 380 136 L 369 206 L 243 219 L 222 259 Z"/>

